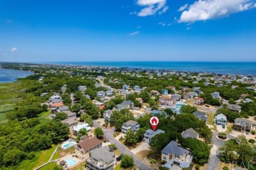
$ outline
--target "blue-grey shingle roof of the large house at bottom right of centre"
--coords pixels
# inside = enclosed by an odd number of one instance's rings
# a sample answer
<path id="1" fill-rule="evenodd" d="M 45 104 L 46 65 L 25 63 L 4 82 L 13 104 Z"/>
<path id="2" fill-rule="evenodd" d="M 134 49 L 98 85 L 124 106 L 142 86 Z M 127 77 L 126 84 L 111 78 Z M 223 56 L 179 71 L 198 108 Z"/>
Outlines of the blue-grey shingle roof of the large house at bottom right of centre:
<path id="1" fill-rule="evenodd" d="M 188 150 L 181 148 L 180 146 L 178 146 L 178 143 L 173 140 L 169 142 L 169 144 L 167 144 L 167 146 L 165 146 L 165 148 L 163 148 L 161 152 L 165 152 L 167 154 L 179 154 L 179 155 L 189 154 Z"/>

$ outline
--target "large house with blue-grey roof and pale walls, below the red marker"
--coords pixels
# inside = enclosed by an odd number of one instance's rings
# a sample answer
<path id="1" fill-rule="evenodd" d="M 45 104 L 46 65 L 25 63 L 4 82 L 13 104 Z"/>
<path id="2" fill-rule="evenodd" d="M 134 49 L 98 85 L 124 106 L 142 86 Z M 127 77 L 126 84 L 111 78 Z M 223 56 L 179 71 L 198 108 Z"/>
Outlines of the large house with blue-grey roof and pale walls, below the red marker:
<path id="1" fill-rule="evenodd" d="M 163 167 L 171 169 L 173 164 L 179 165 L 181 168 L 189 167 L 193 156 L 188 150 L 181 148 L 177 142 L 171 141 L 163 150 L 161 150 L 161 161 L 166 161 Z"/>

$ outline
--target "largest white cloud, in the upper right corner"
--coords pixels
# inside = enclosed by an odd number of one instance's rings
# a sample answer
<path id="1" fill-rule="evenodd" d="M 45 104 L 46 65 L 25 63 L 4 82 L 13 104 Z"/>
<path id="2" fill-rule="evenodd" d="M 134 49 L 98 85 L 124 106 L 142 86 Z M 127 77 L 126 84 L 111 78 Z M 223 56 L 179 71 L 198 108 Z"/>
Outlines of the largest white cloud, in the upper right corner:
<path id="1" fill-rule="evenodd" d="M 221 18 L 255 7 L 253 0 L 198 0 L 183 11 L 179 22 L 196 22 Z M 181 8 L 180 8 L 181 9 Z"/>

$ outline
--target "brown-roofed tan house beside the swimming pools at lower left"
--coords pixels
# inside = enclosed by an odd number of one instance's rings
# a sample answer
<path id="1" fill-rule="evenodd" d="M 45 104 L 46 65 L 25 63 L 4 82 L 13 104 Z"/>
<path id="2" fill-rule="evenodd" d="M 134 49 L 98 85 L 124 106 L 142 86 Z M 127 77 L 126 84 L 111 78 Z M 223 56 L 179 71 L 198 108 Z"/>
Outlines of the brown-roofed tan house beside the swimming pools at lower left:
<path id="1" fill-rule="evenodd" d="M 102 141 L 96 137 L 89 138 L 75 144 L 75 154 L 79 159 L 84 159 L 86 156 L 89 157 L 89 152 L 98 148 L 102 148 Z"/>

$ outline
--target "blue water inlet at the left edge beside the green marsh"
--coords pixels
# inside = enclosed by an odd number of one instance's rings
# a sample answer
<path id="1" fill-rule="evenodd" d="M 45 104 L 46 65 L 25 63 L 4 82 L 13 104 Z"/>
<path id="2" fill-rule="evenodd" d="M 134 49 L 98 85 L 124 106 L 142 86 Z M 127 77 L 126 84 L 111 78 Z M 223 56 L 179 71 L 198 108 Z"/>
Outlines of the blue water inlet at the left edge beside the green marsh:
<path id="1" fill-rule="evenodd" d="M 26 77 L 32 74 L 32 72 L 0 68 L 0 83 L 16 81 L 19 77 Z"/>

